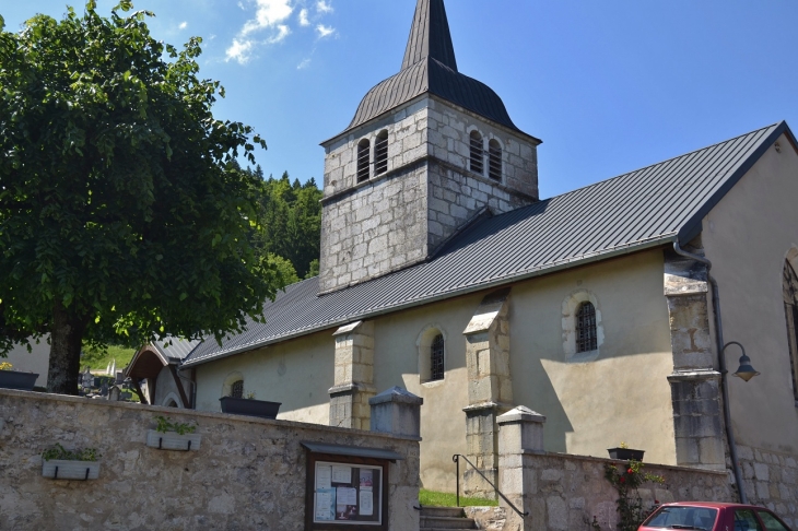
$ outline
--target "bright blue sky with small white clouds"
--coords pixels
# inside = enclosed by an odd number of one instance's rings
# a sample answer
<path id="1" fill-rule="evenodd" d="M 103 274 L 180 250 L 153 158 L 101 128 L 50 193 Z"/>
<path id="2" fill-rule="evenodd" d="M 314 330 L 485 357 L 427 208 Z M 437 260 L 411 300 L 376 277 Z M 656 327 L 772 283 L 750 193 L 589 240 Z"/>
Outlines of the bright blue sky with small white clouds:
<path id="1" fill-rule="evenodd" d="M 64 0 L 0 0 L 8 31 Z M 399 71 L 415 0 L 133 0 L 159 39 L 203 39 L 214 114 L 269 149 L 266 175 L 320 184 L 319 143 Z M 72 2 L 82 8 L 82 0 Z M 108 14 L 116 1 L 99 0 Z M 796 0 L 448 0 L 460 72 L 543 140 L 541 198 L 787 120 L 798 128 Z M 798 132 L 798 129 L 796 129 Z"/>

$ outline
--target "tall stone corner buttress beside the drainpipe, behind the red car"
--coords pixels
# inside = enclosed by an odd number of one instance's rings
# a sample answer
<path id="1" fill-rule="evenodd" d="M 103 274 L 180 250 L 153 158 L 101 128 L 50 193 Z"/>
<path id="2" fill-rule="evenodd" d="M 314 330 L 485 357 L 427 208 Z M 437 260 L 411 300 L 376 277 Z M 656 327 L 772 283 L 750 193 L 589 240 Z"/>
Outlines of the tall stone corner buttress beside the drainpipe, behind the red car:
<path id="1" fill-rule="evenodd" d="M 694 251 L 693 251 L 694 252 Z M 715 370 L 706 266 L 666 252 L 665 296 L 670 315 L 677 464 L 724 470 L 726 450 L 720 373 Z"/>

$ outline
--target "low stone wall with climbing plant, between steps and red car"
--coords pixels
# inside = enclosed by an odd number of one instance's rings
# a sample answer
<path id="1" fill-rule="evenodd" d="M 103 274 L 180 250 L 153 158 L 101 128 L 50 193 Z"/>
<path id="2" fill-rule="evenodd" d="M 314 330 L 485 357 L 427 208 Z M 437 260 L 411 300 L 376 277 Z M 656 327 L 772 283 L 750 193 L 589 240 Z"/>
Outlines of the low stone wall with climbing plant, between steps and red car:
<path id="1" fill-rule="evenodd" d="M 615 531 L 618 492 L 605 479 L 610 459 L 565 453 L 525 453 L 523 457 L 525 499 L 530 514 L 525 528 L 548 531 L 591 531 L 588 522 L 596 516 L 602 531 Z M 734 502 L 729 476 L 724 471 L 645 464 L 645 472 L 665 477 L 665 484 L 644 484 L 639 488 L 644 507 L 660 503 L 701 499 Z M 500 473 L 513 473 L 501 470 Z M 520 477 L 520 475 L 519 475 Z M 506 508 L 506 512 L 513 509 Z M 508 515 L 509 516 L 509 515 Z M 515 531 L 504 526 L 504 531 Z"/>

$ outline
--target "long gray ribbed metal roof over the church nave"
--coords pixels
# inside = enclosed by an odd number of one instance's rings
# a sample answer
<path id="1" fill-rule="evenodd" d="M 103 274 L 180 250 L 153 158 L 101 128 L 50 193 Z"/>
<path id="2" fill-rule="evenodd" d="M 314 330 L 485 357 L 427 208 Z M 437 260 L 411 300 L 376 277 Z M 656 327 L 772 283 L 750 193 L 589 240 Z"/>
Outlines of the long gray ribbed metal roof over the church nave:
<path id="1" fill-rule="evenodd" d="M 469 226 L 432 260 L 318 296 L 318 279 L 289 286 L 266 323 L 184 362 L 204 363 L 401 308 L 501 286 L 669 241 L 690 241 L 701 220 L 786 132 L 770 126 Z"/>

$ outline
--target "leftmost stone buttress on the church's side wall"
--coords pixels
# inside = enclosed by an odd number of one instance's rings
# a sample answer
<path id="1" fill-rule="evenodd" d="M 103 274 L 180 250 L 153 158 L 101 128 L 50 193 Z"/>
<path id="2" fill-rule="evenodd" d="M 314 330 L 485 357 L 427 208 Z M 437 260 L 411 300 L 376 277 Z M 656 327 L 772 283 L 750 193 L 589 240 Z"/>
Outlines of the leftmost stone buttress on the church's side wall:
<path id="1" fill-rule="evenodd" d="M 335 386 L 330 426 L 368 429 L 374 397 L 374 323 L 357 321 L 336 330 Z"/>

